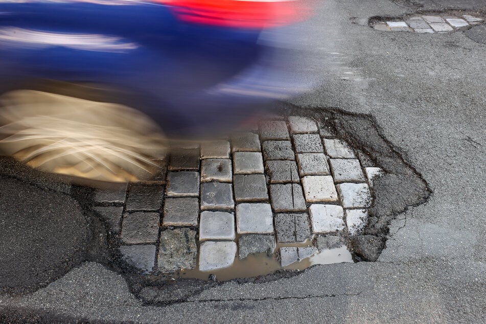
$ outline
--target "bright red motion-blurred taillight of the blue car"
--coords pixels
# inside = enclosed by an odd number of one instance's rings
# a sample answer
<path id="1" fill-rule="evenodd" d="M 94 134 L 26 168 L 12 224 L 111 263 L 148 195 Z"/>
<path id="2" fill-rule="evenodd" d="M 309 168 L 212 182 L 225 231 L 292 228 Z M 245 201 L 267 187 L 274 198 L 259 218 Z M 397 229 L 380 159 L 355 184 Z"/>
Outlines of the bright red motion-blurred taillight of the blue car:
<path id="1" fill-rule="evenodd" d="M 156 0 L 173 6 L 183 21 L 198 24 L 264 28 L 304 20 L 310 13 L 301 0 Z"/>

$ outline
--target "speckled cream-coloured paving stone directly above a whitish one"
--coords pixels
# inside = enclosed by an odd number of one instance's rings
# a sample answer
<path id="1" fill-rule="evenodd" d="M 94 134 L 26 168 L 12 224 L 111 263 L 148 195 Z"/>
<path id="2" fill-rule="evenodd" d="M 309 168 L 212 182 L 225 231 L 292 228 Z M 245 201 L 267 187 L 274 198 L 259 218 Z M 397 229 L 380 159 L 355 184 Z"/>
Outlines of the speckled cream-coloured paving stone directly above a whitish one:
<path id="1" fill-rule="evenodd" d="M 302 179 L 307 202 L 337 201 L 337 192 L 330 175 L 308 175 Z"/>

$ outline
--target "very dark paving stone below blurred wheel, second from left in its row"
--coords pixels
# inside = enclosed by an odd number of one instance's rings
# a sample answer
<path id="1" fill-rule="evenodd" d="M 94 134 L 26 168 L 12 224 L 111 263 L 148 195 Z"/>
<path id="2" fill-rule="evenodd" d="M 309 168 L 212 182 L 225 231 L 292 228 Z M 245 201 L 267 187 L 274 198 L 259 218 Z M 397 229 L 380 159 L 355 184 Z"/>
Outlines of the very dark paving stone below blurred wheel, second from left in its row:
<path id="1" fill-rule="evenodd" d="M 126 211 L 158 211 L 164 197 L 163 186 L 134 184 L 128 191 Z"/>

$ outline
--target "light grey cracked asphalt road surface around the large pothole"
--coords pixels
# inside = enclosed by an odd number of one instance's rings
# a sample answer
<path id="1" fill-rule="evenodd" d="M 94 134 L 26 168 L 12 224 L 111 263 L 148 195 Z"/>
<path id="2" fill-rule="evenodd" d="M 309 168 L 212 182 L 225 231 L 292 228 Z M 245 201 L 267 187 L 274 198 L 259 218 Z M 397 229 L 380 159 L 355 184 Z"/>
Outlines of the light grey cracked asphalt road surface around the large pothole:
<path id="1" fill-rule="evenodd" d="M 485 322 L 486 45 L 462 32 L 378 32 L 367 25 L 372 16 L 448 8 L 486 10 L 482 0 L 328 1 L 302 39 L 322 79 L 292 103 L 371 114 L 431 190 L 426 203 L 391 222 L 377 262 L 226 282 L 183 302 L 147 306 L 120 274 L 85 258 L 34 292 L 2 291 L 0 319 Z"/>

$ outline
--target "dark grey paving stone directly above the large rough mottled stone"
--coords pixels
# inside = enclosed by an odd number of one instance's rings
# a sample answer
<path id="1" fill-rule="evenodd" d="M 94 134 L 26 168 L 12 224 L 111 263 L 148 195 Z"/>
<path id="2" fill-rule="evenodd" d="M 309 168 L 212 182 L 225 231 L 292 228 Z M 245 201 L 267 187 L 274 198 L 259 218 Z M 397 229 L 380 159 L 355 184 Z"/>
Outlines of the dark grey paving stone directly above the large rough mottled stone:
<path id="1" fill-rule="evenodd" d="M 199 199 L 166 198 L 164 202 L 163 226 L 197 226 Z"/>

